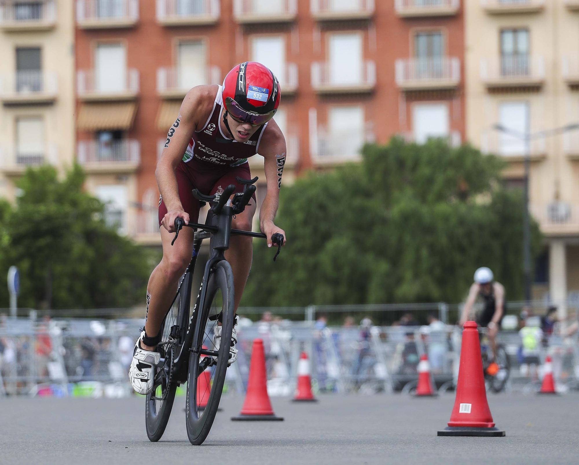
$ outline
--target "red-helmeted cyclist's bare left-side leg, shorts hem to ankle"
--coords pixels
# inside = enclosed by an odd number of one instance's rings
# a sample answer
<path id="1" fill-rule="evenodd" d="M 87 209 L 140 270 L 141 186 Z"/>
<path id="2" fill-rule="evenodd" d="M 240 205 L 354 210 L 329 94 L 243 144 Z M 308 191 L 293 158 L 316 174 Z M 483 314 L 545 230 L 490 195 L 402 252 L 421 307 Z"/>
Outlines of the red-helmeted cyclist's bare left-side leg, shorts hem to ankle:
<path id="1" fill-rule="evenodd" d="M 145 322 L 145 333 L 150 337 L 159 334 L 165 312 L 171 305 L 175 292 L 177 292 L 179 278 L 184 274 L 193 254 L 192 228 L 183 228 L 174 245 L 171 245 L 171 241 L 173 241 L 175 234 L 168 232 L 163 226 L 159 229 L 163 244 L 163 258 L 151 273 L 147 286 L 147 293 L 151 298 Z M 151 346 L 141 345 L 146 350 L 155 349 Z"/>

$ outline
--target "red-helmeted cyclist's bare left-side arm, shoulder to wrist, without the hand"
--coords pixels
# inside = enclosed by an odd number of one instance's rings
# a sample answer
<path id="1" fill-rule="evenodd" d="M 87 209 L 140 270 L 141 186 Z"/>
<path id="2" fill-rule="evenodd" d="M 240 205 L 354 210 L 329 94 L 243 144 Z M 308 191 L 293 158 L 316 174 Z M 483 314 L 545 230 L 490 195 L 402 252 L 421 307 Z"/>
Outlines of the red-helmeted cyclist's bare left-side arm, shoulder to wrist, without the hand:
<path id="1" fill-rule="evenodd" d="M 163 153 L 157 162 L 155 178 L 167 212 L 183 209 L 181 199 L 179 199 L 175 169 L 181 163 L 193 131 L 197 129 L 199 113 L 204 110 L 202 108 L 203 97 L 208 93 L 208 87 L 211 86 L 193 87 L 185 95 L 177 120 L 169 128 Z"/>

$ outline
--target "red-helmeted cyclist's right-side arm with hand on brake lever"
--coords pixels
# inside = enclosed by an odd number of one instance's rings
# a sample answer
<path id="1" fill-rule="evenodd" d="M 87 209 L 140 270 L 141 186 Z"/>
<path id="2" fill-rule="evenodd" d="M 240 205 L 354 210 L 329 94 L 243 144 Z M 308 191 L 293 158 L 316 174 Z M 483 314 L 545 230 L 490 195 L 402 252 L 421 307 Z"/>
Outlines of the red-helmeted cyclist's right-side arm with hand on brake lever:
<path id="1" fill-rule="evenodd" d="M 265 128 L 259 154 L 263 156 L 263 169 L 267 182 L 267 193 L 259 211 L 259 228 L 267 235 L 267 245 L 270 245 L 271 236 L 274 232 L 285 232 L 277 228 L 273 220 L 276 218 L 277 207 L 280 201 L 281 176 L 285 164 L 285 138 L 275 121 L 270 121 Z"/>

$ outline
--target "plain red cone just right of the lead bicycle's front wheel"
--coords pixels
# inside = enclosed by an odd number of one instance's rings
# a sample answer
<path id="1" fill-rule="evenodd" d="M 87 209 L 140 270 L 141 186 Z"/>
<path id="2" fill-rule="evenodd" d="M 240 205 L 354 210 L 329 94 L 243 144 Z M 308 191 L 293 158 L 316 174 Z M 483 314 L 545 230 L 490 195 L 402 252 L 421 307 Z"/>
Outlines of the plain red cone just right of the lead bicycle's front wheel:
<path id="1" fill-rule="evenodd" d="M 255 339 L 251 352 L 250 379 L 247 383 L 245 402 L 239 416 L 233 416 L 232 420 L 283 420 L 273 413 L 272 403 L 267 395 L 266 382 L 263 341 Z"/>

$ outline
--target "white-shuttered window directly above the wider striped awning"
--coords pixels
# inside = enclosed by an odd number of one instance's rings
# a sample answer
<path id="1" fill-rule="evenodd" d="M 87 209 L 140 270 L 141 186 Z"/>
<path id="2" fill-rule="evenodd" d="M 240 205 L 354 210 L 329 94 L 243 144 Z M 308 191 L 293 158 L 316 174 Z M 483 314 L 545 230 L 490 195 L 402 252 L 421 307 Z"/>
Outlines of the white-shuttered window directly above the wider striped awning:
<path id="1" fill-rule="evenodd" d="M 101 43 L 95 53 L 96 89 L 101 93 L 127 90 L 127 54 L 121 43 Z"/>

